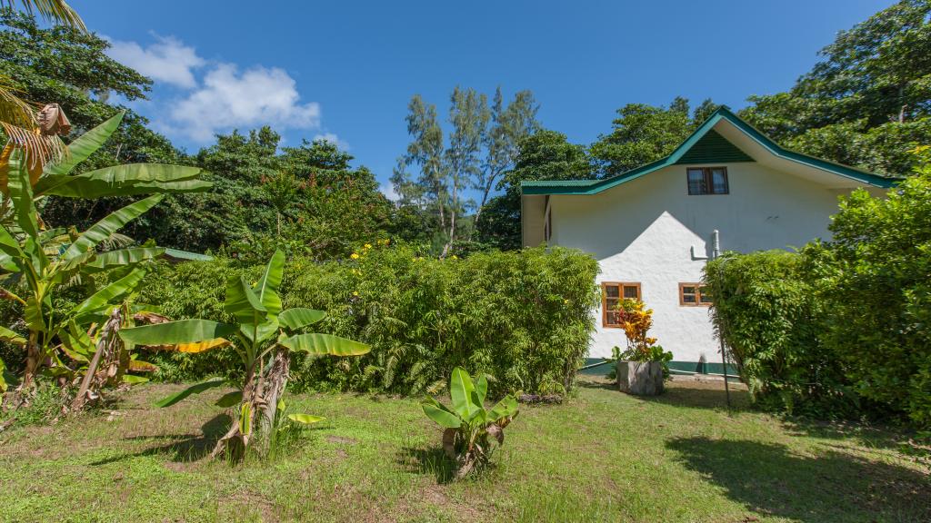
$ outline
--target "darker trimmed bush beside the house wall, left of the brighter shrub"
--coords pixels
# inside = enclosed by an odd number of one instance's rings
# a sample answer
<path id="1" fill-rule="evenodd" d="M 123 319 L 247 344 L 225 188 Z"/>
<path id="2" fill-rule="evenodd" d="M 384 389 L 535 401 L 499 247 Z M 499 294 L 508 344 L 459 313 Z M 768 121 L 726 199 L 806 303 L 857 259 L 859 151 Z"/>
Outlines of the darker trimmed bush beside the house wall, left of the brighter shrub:
<path id="1" fill-rule="evenodd" d="M 754 402 L 766 409 L 836 415 L 857 396 L 819 340 L 824 304 L 798 253 L 727 252 L 708 262 L 711 315 Z"/>

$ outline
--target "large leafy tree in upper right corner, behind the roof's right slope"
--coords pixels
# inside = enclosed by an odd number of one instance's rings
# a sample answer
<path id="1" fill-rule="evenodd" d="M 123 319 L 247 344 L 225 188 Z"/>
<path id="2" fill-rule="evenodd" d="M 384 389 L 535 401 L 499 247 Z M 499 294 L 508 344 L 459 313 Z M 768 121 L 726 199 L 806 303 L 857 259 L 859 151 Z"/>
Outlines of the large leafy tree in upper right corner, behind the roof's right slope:
<path id="1" fill-rule="evenodd" d="M 931 4 L 903 0 L 820 51 L 788 92 L 752 96 L 741 112 L 803 153 L 906 175 L 908 151 L 931 141 Z"/>

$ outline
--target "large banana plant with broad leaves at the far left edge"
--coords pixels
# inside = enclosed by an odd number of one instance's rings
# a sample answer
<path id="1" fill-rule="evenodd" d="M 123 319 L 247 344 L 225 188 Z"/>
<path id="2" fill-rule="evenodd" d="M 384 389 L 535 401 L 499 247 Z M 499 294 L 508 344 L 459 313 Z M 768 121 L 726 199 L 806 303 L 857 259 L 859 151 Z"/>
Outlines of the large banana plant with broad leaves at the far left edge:
<path id="1" fill-rule="evenodd" d="M 105 321 L 140 284 L 145 262 L 165 253 L 153 247 L 100 252 L 101 244 L 128 221 L 155 207 L 161 193 L 203 191 L 210 186 L 197 179 L 197 168 L 156 164 L 73 174 L 115 132 L 122 117 L 117 114 L 74 140 L 66 154 L 42 172 L 30 170 L 24 146 L 14 142 L 7 144 L 0 158 L 0 297 L 22 304 L 29 329 L 28 336 L 15 337 L 12 331 L 0 334 L 26 351 L 26 369 L 16 394 L 5 398 L 7 407 L 28 402 L 36 373 L 47 363 L 57 372 L 68 372 L 60 349 L 69 340 L 69 332 L 87 331 L 94 322 Z M 116 210 L 83 233 L 46 229 L 36 208 L 49 195 L 97 198 L 151 193 L 156 194 Z M 105 271 L 115 277 L 98 288 L 94 275 Z M 63 315 L 53 314 L 56 292 L 75 281 L 86 284 L 88 298 Z"/>

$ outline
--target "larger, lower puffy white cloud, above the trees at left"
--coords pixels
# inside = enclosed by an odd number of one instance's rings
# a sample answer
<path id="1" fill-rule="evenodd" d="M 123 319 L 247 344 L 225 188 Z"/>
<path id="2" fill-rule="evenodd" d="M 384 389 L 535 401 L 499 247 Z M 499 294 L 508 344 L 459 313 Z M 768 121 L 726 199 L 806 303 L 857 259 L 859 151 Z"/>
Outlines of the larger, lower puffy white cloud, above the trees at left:
<path id="1" fill-rule="evenodd" d="M 300 98 L 294 79 L 282 69 L 253 67 L 240 74 L 236 65 L 221 63 L 173 104 L 170 127 L 196 141 L 233 127 L 320 127 L 320 105 L 302 104 Z"/>

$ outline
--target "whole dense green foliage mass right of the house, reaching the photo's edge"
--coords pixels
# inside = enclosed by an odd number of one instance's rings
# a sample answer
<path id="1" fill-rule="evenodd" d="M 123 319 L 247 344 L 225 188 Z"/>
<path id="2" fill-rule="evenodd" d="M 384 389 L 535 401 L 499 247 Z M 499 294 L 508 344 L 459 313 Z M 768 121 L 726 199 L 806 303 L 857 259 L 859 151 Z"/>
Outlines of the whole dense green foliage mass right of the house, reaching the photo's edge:
<path id="1" fill-rule="evenodd" d="M 800 253 L 708 263 L 715 322 L 743 378 L 782 409 L 931 426 L 931 168 L 887 197 L 843 197 L 830 230 Z"/>

